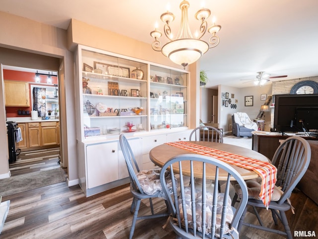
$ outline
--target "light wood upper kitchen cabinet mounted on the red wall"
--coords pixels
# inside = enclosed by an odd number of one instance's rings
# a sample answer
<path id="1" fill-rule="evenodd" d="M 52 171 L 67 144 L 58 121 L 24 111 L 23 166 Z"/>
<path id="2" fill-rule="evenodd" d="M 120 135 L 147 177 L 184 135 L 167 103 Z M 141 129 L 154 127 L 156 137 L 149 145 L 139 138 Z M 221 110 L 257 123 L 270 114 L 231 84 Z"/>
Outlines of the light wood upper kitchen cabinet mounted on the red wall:
<path id="1" fill-rule="evenodd" d="M 5 106 L 30 106 L 29 84 L 23 81 L 4 80 Z"/>

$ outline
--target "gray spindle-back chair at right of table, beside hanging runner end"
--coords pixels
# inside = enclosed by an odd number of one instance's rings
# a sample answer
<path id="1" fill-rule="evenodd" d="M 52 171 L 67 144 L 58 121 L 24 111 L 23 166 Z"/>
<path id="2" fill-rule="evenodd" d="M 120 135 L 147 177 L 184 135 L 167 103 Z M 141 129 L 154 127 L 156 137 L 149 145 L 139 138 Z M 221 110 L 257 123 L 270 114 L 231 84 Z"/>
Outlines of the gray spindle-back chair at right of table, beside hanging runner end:
<path id="1" fill-rule="evenodd" d="M 246 184 L 253 185 L 254 192 L 250 195 L 247 205 L 252 206 L 253 212 L 259 222 L 259 225 L 244 223 L 244 217 L 247 206 L 244 210 L 242 218 L 239 222 L 239 231 L 242 226 L 247 226 L 279 235 L 284 235 L 288 239 L 292 239 L 288 221 L 285 212 L 292 208 L 289 197 L 292 191 L 307 171 L 311 159 L 311 148 L 308 141 L 300 136 L 288 137 L 276 149 L 272 159 L 272 164 L 277 167 L 277 181 L 274 193 L 269 204 L 269 210 L 272 212 L 275 225 L 278 224 L 277 218 L 282 222 L 285 231 L 278 231 L 265 227 L 256 208 L 265 208 L 263 202 L 259 200 L 260 185 L 257 190 L 257 184 L 246 181 Z"/>

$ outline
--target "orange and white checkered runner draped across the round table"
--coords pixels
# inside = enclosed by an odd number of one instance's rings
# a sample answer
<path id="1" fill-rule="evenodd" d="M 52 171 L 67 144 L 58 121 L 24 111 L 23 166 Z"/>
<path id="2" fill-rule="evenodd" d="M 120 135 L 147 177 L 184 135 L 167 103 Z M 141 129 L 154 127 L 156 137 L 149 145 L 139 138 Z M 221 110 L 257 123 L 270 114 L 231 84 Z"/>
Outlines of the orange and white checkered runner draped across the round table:
<path id="1" fill-rule="evenodd" d="M 274 191 L 277 173 L 276 167 L 271 163 L 214 148 L 209 148 L 206 146 L 201 146 L 187 141 L 169 142 L 166 144 L 198 154 L 214 157 L 223 162 L 254 171 L 262 178 L 259 196 L 266 209 L 268 209 L 270 199 Z"/>

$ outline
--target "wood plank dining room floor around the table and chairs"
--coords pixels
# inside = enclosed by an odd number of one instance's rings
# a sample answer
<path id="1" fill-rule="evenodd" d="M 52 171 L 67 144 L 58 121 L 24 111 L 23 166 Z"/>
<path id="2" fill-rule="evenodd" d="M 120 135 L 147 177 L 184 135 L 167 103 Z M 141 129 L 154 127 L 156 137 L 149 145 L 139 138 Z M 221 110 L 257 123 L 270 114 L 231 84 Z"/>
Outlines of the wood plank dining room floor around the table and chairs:
<path id="1" fill-rule="evenodd" d="M 66 182 L 23 193 L 6 196 L 10 209 L 0 239 L 125 239 L 129 236 L 132 215 L 132 196 L 129 185 L 124 185 L 86 198 L 79 186 L 68 187 Z M 296 214 L 287 213 L 292 232 L 316 231 L 318 233 L 318 205 L 301 191 L 292 194 L 291 201 Z M 159 212 L 166 210 L 162 200 L 154 201 Z M 140 214 L 148 213 L 147 201 Z M 249 213 L 246 221 L 256 218 Z M 261 217 L 272 228 L 275 226 L 270 212 L 263 210 Z M 139 220 L 134 238 L 171 239 L 175 235 L 169 227 L 162 229 L 166 218 Z M 243 227 L 240 239 L 282 239 L 284 237 Z"/>

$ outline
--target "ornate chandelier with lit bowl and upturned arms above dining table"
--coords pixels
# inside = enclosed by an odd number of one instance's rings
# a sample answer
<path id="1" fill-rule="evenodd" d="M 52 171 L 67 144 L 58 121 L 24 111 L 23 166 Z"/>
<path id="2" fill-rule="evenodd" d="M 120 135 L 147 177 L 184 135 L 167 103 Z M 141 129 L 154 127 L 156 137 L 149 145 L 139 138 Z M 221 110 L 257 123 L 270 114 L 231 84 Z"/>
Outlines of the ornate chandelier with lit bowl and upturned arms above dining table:
<path id="1" fill-rule="evenodd" d="M 156 27 L 150 35 L 155 38 L 152 43 L 152 47 L 155 51 L 161 51 L 162 54 L 168 57 L 172 62 L 182 65 L 184 68 L 196 62 L 209 48 L 216 47 L 220 39 L 216 36 L 216 33 L 220 31 L 221 26 L 214 23 L 213 26 L 208 28 L 206 19 L 211 15 L 211 11 L 207 8 L 202 8 L 195 13 L 195 18 L 201 21 L 199 33 L 192 36 L 189 22 L 188 22 L 188 8 L 190 4 L 188 1 L 182 1 L 180 3 L 181 9 L 181 24 L 179 32 L 175 39 L 173 39 L 170 29 L 170 23 L 174 20 L 173 13 L 167 11 L 160 16 L 161 21 L 164 24 L 164 34 L 168 38 L 169 42 L 161 47 L 161 42 L 158 40 L 162 33 Z M 209 43 L 201 40 L 206 31 L 209 31 L 212 36 L 209 39 Z"/>

